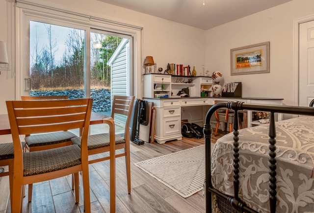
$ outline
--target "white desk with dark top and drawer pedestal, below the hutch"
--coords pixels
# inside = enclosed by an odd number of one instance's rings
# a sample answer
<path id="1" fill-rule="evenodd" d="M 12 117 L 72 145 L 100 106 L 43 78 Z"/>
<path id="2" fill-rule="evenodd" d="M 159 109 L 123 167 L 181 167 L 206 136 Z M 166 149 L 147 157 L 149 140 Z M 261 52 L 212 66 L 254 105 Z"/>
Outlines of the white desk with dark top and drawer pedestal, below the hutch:
<path id="1" fill-rule="evenodd" d="M 265 104 L 265 105 L 283 105 L 283 99 L 280 98 L 204 98 L 204 97 L 189 97 L 189 98 L 144 98 L 145 101 L 153 102 L 156 107 L 156 130 L 155 140 L 157 143 L 163 144 L 169 140 L 181 140 L 181 119 L 185 111 L 190 113 L 193 119 L 194 114 L 201 114 L 199 119 L 204 124 L 204 119 L 207 110 L 193 110 L 194 106 L 212 106 L 214 100 L 239 101 L 248 104 Z M 207 108 L 208 108 L 207 107 Z M 282 114 L 278 113 L 277 120 L 282 120 Z M 189 119 L 190 123 L 195 123 Z M 247 113 L 247 126 L 250 127 L 252 122 L 252 112 Z"/>

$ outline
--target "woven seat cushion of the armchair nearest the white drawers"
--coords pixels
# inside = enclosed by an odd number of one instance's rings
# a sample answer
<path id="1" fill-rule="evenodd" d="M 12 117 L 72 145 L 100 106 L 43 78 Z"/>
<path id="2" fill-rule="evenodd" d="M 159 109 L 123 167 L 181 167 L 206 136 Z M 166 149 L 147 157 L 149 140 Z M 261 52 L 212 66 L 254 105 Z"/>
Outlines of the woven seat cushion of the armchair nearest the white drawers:
<path id="1" fill-rule="evenodd" d="M 71 139 L 74 144 L 77 144 L 80 147 L 81 137 L 74 137 Z M 125 139 L 119 135 L 115 135 L 116 144 L 125 143 Z M 106 147 L 110 145 L 110 136 L 109 133 L 102 134 L 92 134 L 88 135 L 87 138 L 87 147 L 88 150 L 97 149 L 101 147 Z"/>

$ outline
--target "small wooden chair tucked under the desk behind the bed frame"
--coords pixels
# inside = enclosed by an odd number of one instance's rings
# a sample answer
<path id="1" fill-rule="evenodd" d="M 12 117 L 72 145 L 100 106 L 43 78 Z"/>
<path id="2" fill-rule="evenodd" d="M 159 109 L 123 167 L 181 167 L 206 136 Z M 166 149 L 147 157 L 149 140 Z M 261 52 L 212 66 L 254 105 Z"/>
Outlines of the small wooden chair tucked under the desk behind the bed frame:
<path id="1" fill-rule="evenodd" d="M 226 102 L 226 101 L 220 101 L 215 100 L 214 104 L 217 104 L 219 102 Z M 239 129 L 242 129 L 242 121 L 243 121 L 243 114 L 238 113 L 239 116 Z M 232 125 L 234 123 L 235 119 L 235 112 L 232 110 L 229 110 L 228 108 L 218 109 L 215 111 L 215 118 L 216 118 L 216 129 L 215 129 L 215 136 L 217 135 L 219 123 L 223 122 L 225 124 L 225 133 L 227 133 L 227 124 L 229 124 L 229 132 L 232 133 Z"/>

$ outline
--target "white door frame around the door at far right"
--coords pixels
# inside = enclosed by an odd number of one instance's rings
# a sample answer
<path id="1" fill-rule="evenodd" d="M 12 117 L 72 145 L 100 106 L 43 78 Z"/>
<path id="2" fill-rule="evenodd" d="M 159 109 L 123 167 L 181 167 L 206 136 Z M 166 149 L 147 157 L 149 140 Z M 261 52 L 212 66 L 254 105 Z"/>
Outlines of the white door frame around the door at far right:
<path id="1" fill-rule="evenodd" d="M 296 88 L 294 92 L 294 103 L 299 106 L 299 25 L 304 22 L 314 21 L 314 15 L 305 16 L 293 21 L 293 73 L 294 85 Z"/>

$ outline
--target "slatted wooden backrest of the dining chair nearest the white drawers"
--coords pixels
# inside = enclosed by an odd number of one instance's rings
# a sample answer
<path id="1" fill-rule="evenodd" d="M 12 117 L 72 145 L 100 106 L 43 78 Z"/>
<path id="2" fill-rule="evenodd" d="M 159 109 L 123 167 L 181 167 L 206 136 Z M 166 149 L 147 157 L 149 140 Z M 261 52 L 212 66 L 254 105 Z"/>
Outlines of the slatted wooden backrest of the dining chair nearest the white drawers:
<path id="1" fill-rule="evenodd" d="M 134 103 L 134 96 L 113 96 L 113 102 L 111 104 L 111 117 L 114 119 L 114 114 L 121 114 L 127 116 L 125 138 L 130 136 L 130 121 Z"/>

